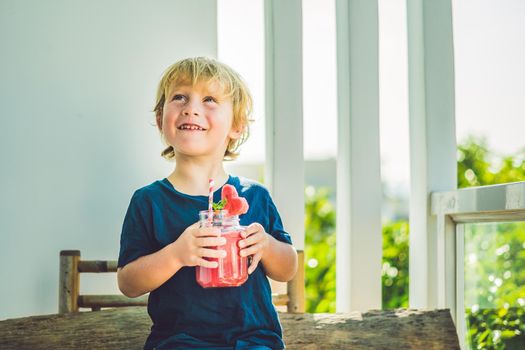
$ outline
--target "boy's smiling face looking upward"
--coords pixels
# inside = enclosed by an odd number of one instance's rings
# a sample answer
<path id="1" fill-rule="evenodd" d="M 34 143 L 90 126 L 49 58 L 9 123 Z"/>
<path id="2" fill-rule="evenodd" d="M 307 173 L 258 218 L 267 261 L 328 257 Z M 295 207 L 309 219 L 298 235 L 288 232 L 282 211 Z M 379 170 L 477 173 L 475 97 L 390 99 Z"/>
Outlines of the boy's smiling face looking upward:
<path id="1" fill-rule="evenodd" d="M 159 119 L 157 125 L 176 156 L 212 155 L 222 160 L 228 141 L 242 132 L 232 129 L 231 99 L 218 83 L 175 86 Z"/>

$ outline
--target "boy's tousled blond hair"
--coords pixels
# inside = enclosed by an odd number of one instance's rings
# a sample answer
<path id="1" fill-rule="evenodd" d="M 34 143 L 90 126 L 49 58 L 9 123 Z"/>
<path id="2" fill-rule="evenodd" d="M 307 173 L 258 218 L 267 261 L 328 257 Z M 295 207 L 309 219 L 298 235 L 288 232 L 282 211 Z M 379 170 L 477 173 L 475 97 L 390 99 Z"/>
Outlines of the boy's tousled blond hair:
<path id="1" fill-rule="evenodd" d="M 224 94 L 231 98 L 233 109 L 232 128 L 243 130 L 241 137 L 231 139 L 226 147 L 224 160 L 233 160 L 239 156 L 237 150 L 249 136 L 249 122 L 252 121 L 253 102 L 246 83 L 237 72 L 226 64 L 212 58 L 194 57 L 183 59 L 171 65 L 166 69 L 160 80 L 153 111 L 157 120 L 162 118 L 164 103 L 174 86 L 187 84 L 195 86 L 203 82 L 207 84 L 212 82 L 219 83 L 224 90 Z M 171 160 L 175 157 L 175 151 L 172 146 L 168 145 L 161 155 Z"/>

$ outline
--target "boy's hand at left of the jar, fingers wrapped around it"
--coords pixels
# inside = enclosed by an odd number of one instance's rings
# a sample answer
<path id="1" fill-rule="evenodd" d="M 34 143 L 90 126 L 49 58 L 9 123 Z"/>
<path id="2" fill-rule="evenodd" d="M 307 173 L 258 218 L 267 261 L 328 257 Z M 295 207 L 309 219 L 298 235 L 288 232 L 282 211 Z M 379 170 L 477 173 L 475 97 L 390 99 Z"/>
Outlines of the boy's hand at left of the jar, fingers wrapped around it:
<path id="1" fill-rule="evenodd" d="M 216 261 L 208 261 L 204 258 L 224 258 L 224 250 L 212 249 L 226 244 L 226 239 L 220 236 L 220 230 L 215 227 L 199 227 L 199 223 L 189 226 L 180 235 L 173 245 L 175 259 L 179 260 L 182 266 L 203 266 L 216 268 Z"/>

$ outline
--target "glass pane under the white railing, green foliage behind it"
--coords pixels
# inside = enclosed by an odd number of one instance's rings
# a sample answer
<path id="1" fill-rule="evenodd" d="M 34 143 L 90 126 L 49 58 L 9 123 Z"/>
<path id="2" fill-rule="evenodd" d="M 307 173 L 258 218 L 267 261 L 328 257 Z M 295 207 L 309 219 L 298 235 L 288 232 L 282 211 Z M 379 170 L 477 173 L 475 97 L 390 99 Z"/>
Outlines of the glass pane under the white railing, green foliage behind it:
<path id="1" fill-rule="evenodd" d="M 464 312 L 470 349 L 525 349 L 525 222 L 466 224 Z"/>

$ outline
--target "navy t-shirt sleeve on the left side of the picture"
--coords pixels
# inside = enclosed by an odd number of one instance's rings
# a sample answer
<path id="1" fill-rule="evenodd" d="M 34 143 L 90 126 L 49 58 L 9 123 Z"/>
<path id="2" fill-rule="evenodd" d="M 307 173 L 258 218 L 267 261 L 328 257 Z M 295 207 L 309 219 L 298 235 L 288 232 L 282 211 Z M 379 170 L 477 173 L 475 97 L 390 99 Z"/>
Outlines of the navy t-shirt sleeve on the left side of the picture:
<path id="1" fill-rule="evenodd" d="M 122 224 L 118 267 L 124 267 L 141 256 L 157 250 L 151 224 L 146 220 L 151 217 L 148 214 L 150 212 L 151 206 L 148 201 L 138 191 L 135 192 Z"/>

